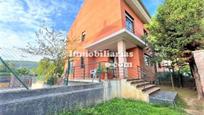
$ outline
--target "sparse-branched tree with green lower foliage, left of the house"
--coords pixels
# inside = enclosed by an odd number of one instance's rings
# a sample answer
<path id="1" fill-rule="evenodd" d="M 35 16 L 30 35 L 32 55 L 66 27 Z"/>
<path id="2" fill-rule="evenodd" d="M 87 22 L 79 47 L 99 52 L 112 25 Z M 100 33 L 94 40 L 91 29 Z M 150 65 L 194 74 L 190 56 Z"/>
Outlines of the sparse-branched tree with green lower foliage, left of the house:
<path id="1" fill-rule="evenodd" d="M 28 43 L 27 47 L 21 50 L 45 57 L 38 66 L 38 74 L 45 75 L 45 80 L 48 80 L 48 77 L 61 76 L 66 45 L 63 33 L 42 27 L 36 32 L 36 38 L 35 43 Z"/>

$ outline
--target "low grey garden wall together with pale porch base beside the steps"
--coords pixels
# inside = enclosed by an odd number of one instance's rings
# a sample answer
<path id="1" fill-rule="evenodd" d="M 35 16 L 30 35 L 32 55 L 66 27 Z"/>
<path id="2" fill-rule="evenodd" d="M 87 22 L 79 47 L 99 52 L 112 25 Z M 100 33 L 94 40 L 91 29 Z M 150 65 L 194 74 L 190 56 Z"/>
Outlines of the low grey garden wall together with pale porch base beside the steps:
<path id="1" fill-rule="evenodd" d="M 103 83 L 79 83 L 35 90 L 0 92 L 0 115 L 46 115 L 87 107 L 113 98 L 132 98 L 149 101 L 126 79 L 107 80 Z"/>

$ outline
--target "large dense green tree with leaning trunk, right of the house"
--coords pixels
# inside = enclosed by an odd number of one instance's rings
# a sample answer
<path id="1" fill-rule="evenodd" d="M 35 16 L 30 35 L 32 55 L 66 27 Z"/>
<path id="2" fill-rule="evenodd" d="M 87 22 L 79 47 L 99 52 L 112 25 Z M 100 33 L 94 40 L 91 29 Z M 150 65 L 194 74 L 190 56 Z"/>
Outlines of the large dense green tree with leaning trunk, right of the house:
<path id="1" fill-rule="evenodd" d="M 203 97 L 192 51 L 204 48 L 204 0 L 165 0 L 147 28 L 157 57 L 172 66 L 189 63 L 198 98 Z"/>

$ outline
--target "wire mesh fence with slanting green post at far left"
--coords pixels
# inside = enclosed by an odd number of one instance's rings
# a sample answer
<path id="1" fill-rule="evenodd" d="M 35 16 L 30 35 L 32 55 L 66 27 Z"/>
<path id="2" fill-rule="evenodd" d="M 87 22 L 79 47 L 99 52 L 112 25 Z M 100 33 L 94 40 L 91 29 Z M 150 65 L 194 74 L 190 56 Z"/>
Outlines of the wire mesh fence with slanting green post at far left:
<path id="1" fill-rule="evenodd" d="M 37 57 L 23 52 L 18 48 L 0 48 L 0 89 L 26 88 L 29 89 L 35 79 Z M 37 58 L 36 58 L 37 59 Z"/>

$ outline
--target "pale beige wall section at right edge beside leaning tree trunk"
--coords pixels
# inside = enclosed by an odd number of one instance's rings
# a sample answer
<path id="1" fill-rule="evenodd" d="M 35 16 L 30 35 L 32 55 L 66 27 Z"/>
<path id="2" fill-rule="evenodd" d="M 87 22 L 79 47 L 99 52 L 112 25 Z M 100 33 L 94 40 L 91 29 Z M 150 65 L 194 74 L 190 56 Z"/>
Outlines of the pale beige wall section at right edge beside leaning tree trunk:
<path id="1" fill-rule="evenodd" d="M 200 75 L 200 81 L 204 92 L 204 50 L 195 51 L 193 52 L 193 55 L 196 66 L 198 68 L 198 73 Z"/>

